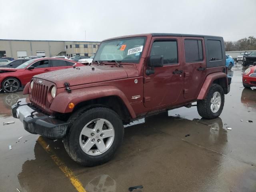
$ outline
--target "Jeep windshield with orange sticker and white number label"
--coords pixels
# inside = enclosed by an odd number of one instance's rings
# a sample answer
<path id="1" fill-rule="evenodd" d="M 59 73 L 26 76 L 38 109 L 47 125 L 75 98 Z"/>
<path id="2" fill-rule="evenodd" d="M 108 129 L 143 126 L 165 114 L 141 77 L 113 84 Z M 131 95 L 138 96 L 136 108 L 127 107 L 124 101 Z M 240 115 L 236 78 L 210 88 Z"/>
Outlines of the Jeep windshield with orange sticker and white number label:
<path id="1" fill-rule="evenodd" d="M 132 37 L 104 41 L 94 56 L 94 61 L 116 60 L 139 63 L 146 37 Z"/>

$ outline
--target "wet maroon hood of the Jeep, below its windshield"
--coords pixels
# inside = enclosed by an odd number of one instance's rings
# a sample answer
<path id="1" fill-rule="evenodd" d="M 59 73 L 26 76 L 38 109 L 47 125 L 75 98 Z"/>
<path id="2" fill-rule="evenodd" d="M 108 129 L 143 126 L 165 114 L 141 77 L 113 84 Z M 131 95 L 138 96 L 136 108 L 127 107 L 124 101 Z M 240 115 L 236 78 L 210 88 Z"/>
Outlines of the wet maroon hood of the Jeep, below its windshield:
<path id="1" fill-rule="evenodd" d="M 94 70 L 92 70 L 92 68 L 94 68 Z M 138 76 L 138 70 L 132 66 L 123 65 L 123 67 L 111 67 L 110 65 L 93 65 L 56 70 L 34 77 L 54 82 L 57 88 L 61 88 L 64 87 L 65 82 L 68 82 L 70 86 L 74 86 L 135 76 Z"/>

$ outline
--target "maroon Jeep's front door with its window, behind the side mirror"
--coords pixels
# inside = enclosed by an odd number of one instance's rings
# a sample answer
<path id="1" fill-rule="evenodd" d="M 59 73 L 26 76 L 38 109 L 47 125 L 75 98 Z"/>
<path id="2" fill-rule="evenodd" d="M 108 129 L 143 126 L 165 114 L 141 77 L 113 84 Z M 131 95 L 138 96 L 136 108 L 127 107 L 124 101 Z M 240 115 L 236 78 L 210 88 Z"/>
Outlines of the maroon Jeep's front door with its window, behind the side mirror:
<path id="1" fill-rule="evenodd" d="M 183 58 L 181 37 L 153 37 L 147 58 L 164 56 L 164 66 L 154 68 L 154 74 L 146 75 L 144 65 L 144 106 L 154 108 L 175 103 L 183 91 Z"/>

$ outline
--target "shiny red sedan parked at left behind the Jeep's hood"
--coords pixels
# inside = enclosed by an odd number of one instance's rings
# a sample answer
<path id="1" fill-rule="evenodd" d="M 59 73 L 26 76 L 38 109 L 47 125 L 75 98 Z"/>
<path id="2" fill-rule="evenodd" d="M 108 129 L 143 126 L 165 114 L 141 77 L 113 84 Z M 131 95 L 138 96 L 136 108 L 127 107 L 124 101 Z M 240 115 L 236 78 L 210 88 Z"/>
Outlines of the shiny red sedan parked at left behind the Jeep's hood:
<path id="1" fill-rule="evenodd" d="M 16 68 L 0 68 L 0 89 L 12 93 L 30 82 L 34 75 L 54 70 L 84 66 L 62 58 L 38 58 L 29 60 Z"/>

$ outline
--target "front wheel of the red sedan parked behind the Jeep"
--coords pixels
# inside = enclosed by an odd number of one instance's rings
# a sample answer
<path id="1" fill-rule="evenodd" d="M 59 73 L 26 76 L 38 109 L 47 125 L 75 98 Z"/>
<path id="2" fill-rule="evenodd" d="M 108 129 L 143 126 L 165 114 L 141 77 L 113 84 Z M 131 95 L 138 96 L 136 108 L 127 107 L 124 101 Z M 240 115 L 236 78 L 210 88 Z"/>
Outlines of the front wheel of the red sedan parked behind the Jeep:
<path id="1" fill-rule="evenodd" d="M 6 93 L 14 93 L 20 89 L 20 81 L 14 77 L 8 77 L 2 81 L 2 90 Z"/>

